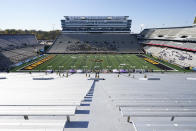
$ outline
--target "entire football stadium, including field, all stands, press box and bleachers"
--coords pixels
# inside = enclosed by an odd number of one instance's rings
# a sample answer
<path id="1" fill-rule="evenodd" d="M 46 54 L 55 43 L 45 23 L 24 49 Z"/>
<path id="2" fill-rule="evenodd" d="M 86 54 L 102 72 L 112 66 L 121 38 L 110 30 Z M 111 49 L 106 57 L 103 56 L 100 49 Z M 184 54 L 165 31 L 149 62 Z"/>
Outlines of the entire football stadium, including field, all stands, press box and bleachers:
<path id="1" fill-rule="evenodd" d="M 195 131 L 195 24 L 64 16 L 47 49 L 0 34 L 0 131 Z"/>

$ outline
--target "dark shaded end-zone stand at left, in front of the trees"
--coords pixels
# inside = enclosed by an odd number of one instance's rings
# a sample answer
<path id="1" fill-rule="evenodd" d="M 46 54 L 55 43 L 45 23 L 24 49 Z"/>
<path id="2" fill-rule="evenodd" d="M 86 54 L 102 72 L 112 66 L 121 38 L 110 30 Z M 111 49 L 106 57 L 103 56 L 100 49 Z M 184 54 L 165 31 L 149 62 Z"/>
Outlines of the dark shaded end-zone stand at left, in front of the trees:
<path id="1" fill-rule="evenodd" d="M 35 35 L 0 35 L 0 70 L 10 65 L 36 56 L 43 49 Z"/>

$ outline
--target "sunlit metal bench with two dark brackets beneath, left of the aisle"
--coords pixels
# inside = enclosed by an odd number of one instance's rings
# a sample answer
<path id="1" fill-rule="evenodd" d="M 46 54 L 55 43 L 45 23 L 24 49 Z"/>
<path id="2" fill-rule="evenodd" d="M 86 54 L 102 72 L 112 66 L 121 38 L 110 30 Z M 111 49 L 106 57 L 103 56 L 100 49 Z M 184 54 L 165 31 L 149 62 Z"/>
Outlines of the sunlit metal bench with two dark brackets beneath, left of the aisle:
<path id="1" fill-rule="evenodd" d="M 74 116 L 76 106 L 0 106 L 0 116 Z"/>

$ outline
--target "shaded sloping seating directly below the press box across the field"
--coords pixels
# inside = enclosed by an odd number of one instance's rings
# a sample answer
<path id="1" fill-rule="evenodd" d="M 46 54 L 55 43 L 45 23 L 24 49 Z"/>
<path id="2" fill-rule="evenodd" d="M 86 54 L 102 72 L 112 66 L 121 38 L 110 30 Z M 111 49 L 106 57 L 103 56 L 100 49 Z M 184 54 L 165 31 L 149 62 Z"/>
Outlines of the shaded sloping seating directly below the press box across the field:
<path id="1" fill-rule="evenodd" d="M 134 35 L 127 33 L 62 33 L 48 53 L 141 52 Z"/>

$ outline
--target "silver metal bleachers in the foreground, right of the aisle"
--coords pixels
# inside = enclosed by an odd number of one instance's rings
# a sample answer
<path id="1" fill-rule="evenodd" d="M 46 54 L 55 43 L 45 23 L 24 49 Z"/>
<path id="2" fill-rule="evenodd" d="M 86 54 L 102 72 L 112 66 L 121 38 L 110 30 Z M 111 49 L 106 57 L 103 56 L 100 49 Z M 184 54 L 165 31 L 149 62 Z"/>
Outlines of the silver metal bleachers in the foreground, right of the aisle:
<path id="1" fill-rule="evenodd" d="M 160 80 L 147 82 L 140 81 L 143 74 L 105 75 L 106 81 L 96 86 L 103 87 L 136 131 L 195 131 L 196 88 L 186 76 L 190 74 L 148 74 Z"/>

